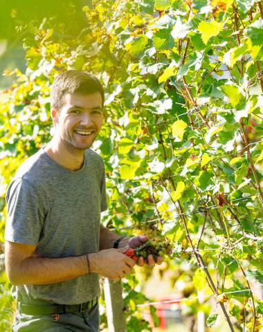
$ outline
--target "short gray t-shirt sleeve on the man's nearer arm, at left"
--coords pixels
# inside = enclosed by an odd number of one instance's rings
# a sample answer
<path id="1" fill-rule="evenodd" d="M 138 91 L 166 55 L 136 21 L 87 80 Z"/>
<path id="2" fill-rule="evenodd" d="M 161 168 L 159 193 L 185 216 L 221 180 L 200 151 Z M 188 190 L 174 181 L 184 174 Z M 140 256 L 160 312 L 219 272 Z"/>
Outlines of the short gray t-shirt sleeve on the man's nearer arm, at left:
<path id="1" fill-rule="evenodd" d="M 8 187 L 6 203 L 5 239 L 37 245 L 44 223 L 44 209 L 33 185 L 24 178 L 15 178 Z"/>

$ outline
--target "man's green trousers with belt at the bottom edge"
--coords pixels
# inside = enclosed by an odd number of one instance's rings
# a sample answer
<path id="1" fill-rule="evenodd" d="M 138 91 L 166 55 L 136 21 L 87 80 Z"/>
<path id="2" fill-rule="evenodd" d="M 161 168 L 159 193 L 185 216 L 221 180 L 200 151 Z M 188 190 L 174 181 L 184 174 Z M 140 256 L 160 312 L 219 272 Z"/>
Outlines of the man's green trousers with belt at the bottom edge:
<path id="1" fill-rule="evenodd" d="M 98 303 L 82 313 L 62 313 L 57 315 L 33 316 L 17 312 L 13 332 L 98 332 L 100 314 Z"/>

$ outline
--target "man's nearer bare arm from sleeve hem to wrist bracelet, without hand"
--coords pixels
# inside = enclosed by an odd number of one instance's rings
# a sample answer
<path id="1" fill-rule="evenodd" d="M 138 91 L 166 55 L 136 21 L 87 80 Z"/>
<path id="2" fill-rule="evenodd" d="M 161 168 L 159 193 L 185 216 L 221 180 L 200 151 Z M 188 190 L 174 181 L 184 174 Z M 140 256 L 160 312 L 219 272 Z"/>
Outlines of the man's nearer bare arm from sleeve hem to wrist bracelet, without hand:
<path id="1" fill-rule="evenodd" d="M 89 273 L 87 257 L 34 257 L 37 246 L 6 241 L 6 273 L 12 284 L 53 284 Z"/>

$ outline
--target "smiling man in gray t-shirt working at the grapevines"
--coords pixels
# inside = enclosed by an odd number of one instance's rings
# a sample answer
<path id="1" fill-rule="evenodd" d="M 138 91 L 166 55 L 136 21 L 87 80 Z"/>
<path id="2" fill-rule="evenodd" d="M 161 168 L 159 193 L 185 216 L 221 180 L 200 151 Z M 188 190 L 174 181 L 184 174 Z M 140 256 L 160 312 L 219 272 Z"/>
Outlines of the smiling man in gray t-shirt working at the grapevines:
<path id="1" fill-rule="evenodd" d="M 18 302 L 13 331 L 99 331 L 99 275 L 131 273 L 135 262 L 124 252 L 147 241 L 119 238 L 100 225 L 105 170 L 90 147 L 103 124 L 103 103 L 102 85 L 89 73 L 56 77 L 55 136 L 8 187 L 6 272 Z M 154 266 L 151 255 L 147 263 Z"/>

